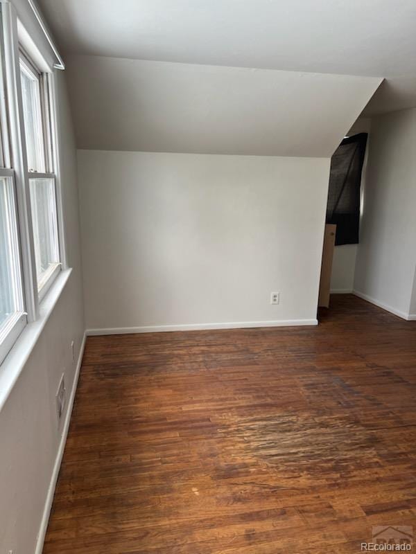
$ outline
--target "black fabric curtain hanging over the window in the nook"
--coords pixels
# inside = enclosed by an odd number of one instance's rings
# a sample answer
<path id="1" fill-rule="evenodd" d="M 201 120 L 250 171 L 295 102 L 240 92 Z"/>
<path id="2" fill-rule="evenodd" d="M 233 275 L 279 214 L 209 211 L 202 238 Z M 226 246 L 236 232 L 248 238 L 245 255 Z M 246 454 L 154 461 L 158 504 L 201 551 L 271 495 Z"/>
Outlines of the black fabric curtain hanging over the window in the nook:
<path id="1" fill-rule="evenodd" d="M 327 223 L 336 224 L 335 244 L 357 244 L 360 186 L 367 133 L 344 139 L 331 158 Z"/>

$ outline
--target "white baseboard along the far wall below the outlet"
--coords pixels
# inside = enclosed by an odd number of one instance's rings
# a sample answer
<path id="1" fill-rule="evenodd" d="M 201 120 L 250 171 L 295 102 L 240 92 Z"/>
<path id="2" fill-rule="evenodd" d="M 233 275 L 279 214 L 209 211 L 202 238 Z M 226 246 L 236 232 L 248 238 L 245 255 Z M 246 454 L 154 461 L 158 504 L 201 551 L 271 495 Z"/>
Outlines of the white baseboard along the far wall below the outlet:
<path id="1" fill-rule="evenodd" d="M 233 321 L 232 323 L 187 323 L 184 325 L 147 325 L 144 327 L 114 327 L 87 329 L 87 336 L 97 334 L 157 333 L 166 331 L 200 331 L 209 329 L 244 329 L 256 327 L 293 327 L 318 325 L 318 319 L 281 319 L 276 321 Z"/>

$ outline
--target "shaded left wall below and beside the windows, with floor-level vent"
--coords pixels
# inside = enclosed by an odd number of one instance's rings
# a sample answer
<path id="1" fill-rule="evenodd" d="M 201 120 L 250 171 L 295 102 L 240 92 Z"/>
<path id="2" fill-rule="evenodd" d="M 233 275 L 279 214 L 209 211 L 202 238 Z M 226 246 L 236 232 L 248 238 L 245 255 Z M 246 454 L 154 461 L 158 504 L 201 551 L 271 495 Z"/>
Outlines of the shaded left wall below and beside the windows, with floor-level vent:
<path id="1" fill-rule="evenodd" d="M 69 281 L 0 412 L 0 551 L 35 552 L 62 436 L 55 393 L 65 371 L 67 397 L 83 340 L 76 150 L 64 72 L 58 72 L 61 169 Z M 66 409 L 68 404 L 66 406 Z M 63 418 L 65 417 L 65 414 Z"/>

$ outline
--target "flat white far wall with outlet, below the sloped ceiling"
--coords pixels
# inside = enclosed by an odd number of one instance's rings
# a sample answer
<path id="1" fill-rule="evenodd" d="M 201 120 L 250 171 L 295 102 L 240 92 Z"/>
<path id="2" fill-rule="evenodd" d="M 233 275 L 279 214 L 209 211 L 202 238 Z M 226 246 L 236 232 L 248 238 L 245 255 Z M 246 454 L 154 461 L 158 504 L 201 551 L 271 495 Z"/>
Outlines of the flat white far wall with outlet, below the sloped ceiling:
<path id="1" fill-rule="evenodd" d="M 328 175 L 329 159 L 78 151 L 87 328 L 315 321 Z"/>

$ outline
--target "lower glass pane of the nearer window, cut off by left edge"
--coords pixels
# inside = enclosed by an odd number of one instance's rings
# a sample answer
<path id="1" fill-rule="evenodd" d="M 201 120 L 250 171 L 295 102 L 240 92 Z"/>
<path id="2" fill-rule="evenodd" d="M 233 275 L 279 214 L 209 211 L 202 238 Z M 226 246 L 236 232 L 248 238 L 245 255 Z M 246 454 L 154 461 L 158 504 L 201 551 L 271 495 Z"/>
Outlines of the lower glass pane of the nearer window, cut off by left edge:
<path id="1" fill-rule="evenodd" d="M 0 329 L 23 312 L 13 181 L 0 177 Z"/>

